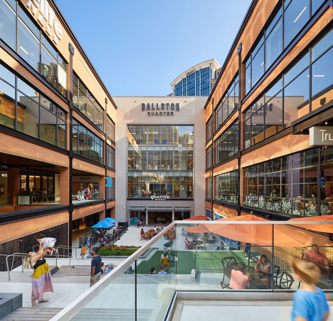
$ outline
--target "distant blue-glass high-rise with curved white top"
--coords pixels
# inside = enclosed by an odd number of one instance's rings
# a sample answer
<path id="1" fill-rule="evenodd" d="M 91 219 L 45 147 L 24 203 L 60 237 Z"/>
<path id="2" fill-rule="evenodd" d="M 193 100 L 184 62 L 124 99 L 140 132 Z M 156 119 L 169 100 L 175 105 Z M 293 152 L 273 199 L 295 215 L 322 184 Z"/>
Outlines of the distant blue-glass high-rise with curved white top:
<path id="1" fill-rule="evenodd" d="M 219 69 L 217 61 L 211 59 L 185 70 L 170 83 L 170 96 L 208 96 Z"/>

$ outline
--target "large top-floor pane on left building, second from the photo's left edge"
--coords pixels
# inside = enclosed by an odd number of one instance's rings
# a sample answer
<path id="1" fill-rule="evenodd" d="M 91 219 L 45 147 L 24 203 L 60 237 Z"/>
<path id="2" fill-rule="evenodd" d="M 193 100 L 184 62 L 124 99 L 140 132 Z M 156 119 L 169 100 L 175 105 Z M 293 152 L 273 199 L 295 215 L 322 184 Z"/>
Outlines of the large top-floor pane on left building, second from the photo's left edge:
<path id="1" fill-rule="evenodd" d="M 18 54 L 39 72 L 40 42 L 20 18 L 18 19 L 18 43 Z"/>

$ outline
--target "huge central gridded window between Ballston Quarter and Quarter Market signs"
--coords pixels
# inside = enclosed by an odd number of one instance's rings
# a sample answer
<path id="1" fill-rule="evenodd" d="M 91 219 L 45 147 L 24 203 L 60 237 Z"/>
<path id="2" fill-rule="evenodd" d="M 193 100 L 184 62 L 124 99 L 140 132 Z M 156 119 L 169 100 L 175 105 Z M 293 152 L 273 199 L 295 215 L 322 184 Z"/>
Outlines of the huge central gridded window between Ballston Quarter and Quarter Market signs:
<path id="1" fill-rule="evenodd" d="M 193 126 L 128 126 L 128 197 L 193 197 Z"/>

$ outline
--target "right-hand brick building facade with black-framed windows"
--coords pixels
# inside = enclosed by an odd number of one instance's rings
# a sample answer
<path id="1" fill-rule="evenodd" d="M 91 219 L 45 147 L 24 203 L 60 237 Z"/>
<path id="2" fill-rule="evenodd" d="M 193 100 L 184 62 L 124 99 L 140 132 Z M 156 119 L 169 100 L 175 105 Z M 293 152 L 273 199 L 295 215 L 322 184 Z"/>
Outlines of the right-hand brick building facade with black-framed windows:
<path id="1" fill-rule="evenodd" d="M 210 219 L 333 214 L 332 147 L 309 145 L 310 127 L 333 123 L 332 18 L 331 1 L 251 2 L 205 105 Z M 301 250 L 270 259 L 289 269 Z M 332 248 L 323 252 L 333 259 Z"/>

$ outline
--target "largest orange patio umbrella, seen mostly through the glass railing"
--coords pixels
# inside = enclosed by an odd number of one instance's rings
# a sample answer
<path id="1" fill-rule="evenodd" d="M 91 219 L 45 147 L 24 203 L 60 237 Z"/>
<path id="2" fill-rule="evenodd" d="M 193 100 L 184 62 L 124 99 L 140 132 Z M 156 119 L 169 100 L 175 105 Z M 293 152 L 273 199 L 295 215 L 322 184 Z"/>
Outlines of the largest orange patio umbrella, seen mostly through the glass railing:
<path id="1" fill-rule="evenodd" d="M 242 215 L 218 221 L 267 221 L 255 215 Z M 228 239 L 245 243 L 272 245 L 272 224 L 206 224 L 207 229 Z M 312 237 L 289 229 L 283 225 L 274 225 L 274 246 L 306 246 Z"/>

